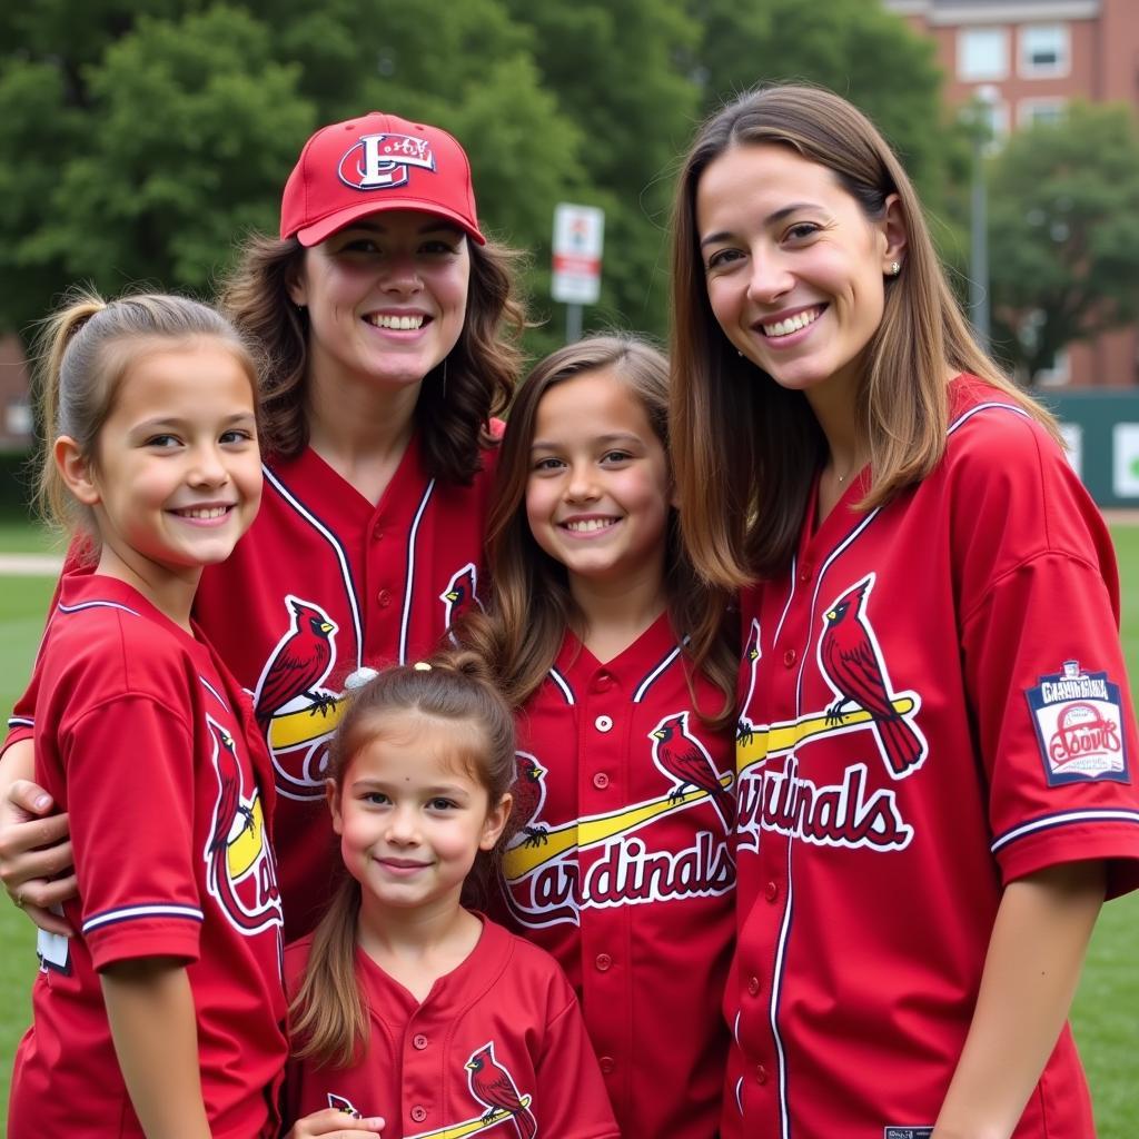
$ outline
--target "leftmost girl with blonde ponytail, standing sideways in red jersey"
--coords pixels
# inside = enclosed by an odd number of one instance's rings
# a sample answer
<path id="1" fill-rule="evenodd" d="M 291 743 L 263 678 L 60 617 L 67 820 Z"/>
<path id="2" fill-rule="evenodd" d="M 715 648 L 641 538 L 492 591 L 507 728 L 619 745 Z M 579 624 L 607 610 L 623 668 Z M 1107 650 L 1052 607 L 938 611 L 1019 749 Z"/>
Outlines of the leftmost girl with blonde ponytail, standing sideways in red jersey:
<path id="1" fill-rule="evenodd" d="M 35 777 L 69 814 L 77 932 L 40 934 L 8 1134 L 271 1136 L 272 777 L 190 621 L 261 497 L 253 360 L 212 309 L 161 295 L 81 297 L 46 346 L 41 500 L 95 564 L 64 579 L 35 665 Z"/>

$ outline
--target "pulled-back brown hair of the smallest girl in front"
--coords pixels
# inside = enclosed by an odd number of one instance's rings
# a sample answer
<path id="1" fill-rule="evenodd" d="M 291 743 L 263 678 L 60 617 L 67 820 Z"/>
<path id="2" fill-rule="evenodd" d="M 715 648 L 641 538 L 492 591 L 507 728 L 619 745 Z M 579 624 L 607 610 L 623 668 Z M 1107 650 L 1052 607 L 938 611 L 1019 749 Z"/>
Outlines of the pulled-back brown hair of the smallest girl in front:
<path id="1" fill-rule="evenodd" d="M 353 757 L 383 732 L 385 716 L 411 712 L 453 726 L 456 759 L 494 806 L 514 782 L 514 715 L 476 654 L 439 653 L 427 663 L 429 669 L 385 669 L 351 693 L 329 747 L 329 778 L 343 790 Z M 464 904 L 485 904 L 501 842 L 478 852 L 464 884 Z M 318 1065 L 347 1067 L 368 1047 L 368 1009 L 355 967 L 359 913 L 360 883 L 345 872 L 312 935 L 304 980 L 289 1006 L 293 1054 Z"/>

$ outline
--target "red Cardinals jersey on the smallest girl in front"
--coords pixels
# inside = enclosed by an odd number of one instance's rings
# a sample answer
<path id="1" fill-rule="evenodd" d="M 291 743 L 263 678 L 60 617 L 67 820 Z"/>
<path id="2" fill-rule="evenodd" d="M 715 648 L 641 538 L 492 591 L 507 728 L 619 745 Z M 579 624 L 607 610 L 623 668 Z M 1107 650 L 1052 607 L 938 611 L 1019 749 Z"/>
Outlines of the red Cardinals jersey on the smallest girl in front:
<path id="1" fill-rule="evenodd" d="M 292 993 L 311 940 L 286 951 Z M 290 1060 L 286 1123 L 343 1107 L 383 1115 L 385 1134 L 408 1139 L 489 1129 L 518 1139 L 616 1139 L 576 998 L 548 953 L 484 920 L 474 951 L 421 1005 L 362 950 L 357 976 L 368 1052 L 351 1068 Z"/>

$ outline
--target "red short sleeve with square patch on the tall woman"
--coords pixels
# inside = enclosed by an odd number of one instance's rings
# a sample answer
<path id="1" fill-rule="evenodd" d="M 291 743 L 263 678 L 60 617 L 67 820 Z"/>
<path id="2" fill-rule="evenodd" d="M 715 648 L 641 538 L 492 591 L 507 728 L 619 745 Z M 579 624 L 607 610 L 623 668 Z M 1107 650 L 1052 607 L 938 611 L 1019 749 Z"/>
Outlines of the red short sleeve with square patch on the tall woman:
<path id="1" fill-rule="evenodd" d="M 1115 560 L 1095 505 L 1042 436 L 1016 425 L 1001 461 L 974 456 L 958 551 L 965 683 L 1003 880 L 1104 859 L 1111 896 L 1139 886 Z"/>

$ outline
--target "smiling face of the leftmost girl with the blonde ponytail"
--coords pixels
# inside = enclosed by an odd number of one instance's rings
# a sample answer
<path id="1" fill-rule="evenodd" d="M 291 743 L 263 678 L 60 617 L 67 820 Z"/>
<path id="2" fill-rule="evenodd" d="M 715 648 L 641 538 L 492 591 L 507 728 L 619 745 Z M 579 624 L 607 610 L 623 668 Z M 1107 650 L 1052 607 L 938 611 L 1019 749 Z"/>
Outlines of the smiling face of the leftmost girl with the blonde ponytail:
<path id="1" fill-rule="evenodd" d="M 177 350 L 156 342 L 153 351 L 136 351 L 93 461 L 77 457 L 67 436 L 56 456 L 68 486 L 95 514 L 99 572 L 167 611 L 167 593 L 192 589 L 203 566 L 229 557 L 257 513 L 253 386 L 218 341 Z"/>

